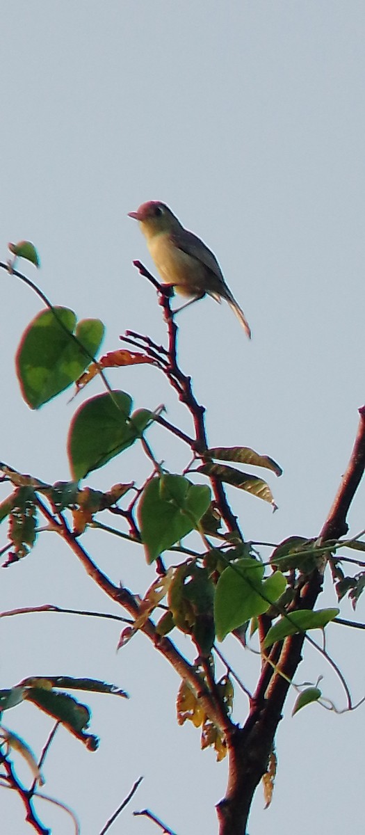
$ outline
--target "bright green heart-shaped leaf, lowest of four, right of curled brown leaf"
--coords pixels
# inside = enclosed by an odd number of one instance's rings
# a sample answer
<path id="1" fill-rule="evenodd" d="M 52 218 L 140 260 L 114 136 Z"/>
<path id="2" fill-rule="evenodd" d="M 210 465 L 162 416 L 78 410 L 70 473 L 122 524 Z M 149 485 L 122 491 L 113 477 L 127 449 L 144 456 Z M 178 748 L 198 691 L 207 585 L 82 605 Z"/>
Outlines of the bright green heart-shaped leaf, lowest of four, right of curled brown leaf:
<path id="1" fill-rule="evenodd" d="M 246 620 L 263 615 L 283 594 L 287 581 L 280 571 L 263 581 L 264 567 L 256 559 L 238 559 L 223 571 L 216 588 L 214 620 L 218 640 Z"/>

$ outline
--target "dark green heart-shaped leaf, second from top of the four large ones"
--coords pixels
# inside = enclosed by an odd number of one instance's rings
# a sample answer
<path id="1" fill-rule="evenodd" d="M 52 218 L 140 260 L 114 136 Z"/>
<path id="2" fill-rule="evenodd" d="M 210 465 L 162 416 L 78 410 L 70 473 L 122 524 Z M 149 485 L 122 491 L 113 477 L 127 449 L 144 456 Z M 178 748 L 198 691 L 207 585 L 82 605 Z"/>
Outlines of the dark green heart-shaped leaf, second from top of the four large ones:
<path id="1" fill-rule="evenodd" d="M 141 438 L 153 414 L 140 409 L 130 417 L 131 408 L 132 397 L 117 391 L 82 403 L 72 418 L 67 438 L 72 478 L 85 478 Z"/>

